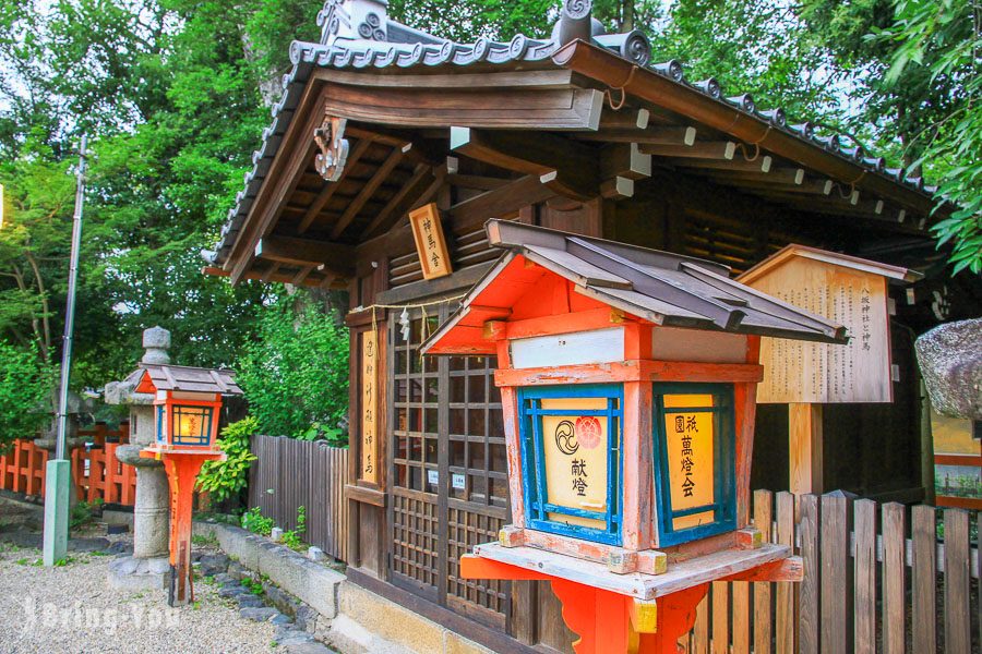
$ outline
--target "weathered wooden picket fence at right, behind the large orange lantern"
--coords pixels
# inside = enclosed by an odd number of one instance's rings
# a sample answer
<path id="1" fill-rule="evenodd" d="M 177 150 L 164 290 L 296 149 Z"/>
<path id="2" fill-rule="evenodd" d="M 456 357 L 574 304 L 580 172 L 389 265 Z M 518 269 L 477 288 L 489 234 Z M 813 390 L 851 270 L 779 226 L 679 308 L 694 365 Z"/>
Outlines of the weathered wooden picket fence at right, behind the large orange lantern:
<path id="1" fill-rule="evenodd" d="M 680 641 L 688 654 L 982 651 L 969 529 L 982 513 L 757 491 L 753 516 L 765 538 L 794 544 L 805 580 L 711 584 Z"/>

